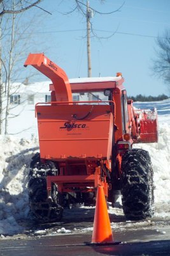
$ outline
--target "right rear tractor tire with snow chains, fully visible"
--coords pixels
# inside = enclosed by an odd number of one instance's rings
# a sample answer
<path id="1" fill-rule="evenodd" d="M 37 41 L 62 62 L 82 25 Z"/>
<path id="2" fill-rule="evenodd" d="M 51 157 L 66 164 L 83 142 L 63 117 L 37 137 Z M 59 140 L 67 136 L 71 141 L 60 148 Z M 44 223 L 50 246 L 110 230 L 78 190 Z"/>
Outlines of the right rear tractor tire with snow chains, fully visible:
<path id="1" fill-rule="evenodd" d="M 153 215 L 153 170 L 146 150 L 134 148 L 122 157 L 122 205 L 127 220 Z"/>

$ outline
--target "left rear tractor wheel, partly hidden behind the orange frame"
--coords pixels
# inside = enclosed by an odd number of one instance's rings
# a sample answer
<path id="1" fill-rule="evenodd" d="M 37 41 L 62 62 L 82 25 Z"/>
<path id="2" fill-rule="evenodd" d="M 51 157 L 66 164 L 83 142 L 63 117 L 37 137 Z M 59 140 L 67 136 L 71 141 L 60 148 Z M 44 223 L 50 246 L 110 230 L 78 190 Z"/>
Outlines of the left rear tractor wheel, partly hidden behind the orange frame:
<path id="1" fill-rule="evenodd" d="M 57 186 L 53 184 L 49 198 L 46 189 L 46 175 L 57 175 L 55 164 L 52 161 L 41 163 L 39 153 L 36 153 L 30 166 L 28 190 L 32 218 L 42 223 L 59 221 L 63 208 L 60 206 Z"/>

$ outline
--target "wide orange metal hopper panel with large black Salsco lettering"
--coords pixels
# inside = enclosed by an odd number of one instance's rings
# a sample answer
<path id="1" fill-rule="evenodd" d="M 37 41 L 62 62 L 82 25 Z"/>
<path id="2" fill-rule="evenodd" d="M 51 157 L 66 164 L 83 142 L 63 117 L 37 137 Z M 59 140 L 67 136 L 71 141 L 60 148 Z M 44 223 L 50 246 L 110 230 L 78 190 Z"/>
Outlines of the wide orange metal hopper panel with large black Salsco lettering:
<path id="1" fill-rule="evenodd" d="M 110 159 L 113 136 L 110 105 L 36 106 L 36 112 L 41 158 Z M 76 120 L 74 115 L 82 120 Z"/>

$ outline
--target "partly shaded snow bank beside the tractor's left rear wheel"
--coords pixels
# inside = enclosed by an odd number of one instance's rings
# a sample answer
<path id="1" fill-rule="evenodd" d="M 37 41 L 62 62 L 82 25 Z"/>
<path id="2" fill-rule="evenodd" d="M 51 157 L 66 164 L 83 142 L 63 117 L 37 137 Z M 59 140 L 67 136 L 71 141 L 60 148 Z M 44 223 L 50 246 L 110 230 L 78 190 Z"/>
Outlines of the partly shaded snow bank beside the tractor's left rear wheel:
<path id="1" fill-rule="evenodd" d="M 17 220 L 28 216 L 27 174 L 38 141 L 0 136 L 0 234 L 22 231 Z"/>

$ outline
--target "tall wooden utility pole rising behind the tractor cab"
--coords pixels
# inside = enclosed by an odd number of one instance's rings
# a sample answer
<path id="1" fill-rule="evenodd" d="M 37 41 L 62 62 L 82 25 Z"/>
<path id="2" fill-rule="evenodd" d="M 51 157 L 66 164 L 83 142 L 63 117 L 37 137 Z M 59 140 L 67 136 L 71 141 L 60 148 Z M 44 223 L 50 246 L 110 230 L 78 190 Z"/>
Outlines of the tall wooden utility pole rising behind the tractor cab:
<path id="1" fill-rule="evenodd" d="M 89 1 L 87 1 L 87 61 L 88 61 L 88 77 L 92 77 L 91 67 L 91 51 L 90 51 L 90 18 L 92 18 L 92 10 L 89 8 Z"/>

